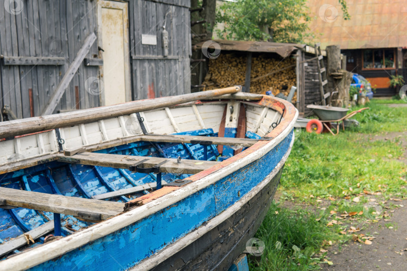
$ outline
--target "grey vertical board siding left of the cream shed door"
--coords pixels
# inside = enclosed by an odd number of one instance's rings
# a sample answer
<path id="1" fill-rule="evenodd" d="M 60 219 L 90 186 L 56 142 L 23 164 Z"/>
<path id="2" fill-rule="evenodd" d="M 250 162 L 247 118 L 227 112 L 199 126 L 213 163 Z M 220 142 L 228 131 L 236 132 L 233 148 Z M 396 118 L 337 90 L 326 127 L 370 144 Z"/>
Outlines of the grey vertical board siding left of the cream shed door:
<path id="1" fill-rule="evenodd" d="M 96 2 L 23 0 L 20 14 L 7 12 L 0 0 L 0 53 L 10 57 L 63 57 L 65 65 L 8 65 L 2 61 L 0 105 L 9 105 L 19 118 L 30 117 L 29 88 L 34 112 L 40 115 L 85 38 L 96 31 Z M 94 43 L 86 57 L 97 56 Z M 75 109 L 74 87 L 79 86 L 80 108 L 99 105 L 99 97 L 84 89 L 84 81 L 98 75 L 97 66 L 82 63 L 56 110 Z"/>

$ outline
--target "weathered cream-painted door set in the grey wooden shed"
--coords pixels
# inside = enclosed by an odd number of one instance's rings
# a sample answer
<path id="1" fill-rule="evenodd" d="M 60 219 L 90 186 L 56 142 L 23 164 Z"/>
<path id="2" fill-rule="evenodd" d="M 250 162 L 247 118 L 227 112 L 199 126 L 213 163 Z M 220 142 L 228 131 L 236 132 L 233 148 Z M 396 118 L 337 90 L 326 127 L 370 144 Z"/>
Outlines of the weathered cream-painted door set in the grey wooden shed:
<path id="1" fill-rule="evenodd" d="M 103 58 L 101 104 L 131 100 L 128 3 L 98 1 L 98 44 Z"/>

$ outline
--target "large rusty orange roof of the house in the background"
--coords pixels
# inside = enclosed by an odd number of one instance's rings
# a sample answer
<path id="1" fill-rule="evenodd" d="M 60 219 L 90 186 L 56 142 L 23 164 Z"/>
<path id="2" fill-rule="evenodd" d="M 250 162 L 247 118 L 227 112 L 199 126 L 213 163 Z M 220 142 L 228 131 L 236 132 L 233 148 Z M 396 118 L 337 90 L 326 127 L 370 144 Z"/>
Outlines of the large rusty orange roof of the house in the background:
<path id="1" fill-rule="evenodd" d="M 341 49 L 407 46 L 407 0 L 347 0 L 350 20 L 338 0 L 309 0 L 310 28 L 321 47 Z"/>

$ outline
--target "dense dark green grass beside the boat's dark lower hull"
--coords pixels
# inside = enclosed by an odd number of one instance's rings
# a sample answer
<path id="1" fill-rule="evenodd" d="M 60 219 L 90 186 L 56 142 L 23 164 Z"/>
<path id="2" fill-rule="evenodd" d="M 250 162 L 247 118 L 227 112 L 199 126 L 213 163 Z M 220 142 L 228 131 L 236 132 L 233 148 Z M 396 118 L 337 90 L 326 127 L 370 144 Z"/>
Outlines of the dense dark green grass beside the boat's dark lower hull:
<path id="1" fill-rule="evenodd" d="M 326 224 L 327 215 L 321 218 L 314 212 L 290 210 L 273 203 L 255 236 L 264 242 L 264 254 L 260 261 L 251 258 L 251 269 L 319 269 L 318 263 L 324 262 L 326 255 L 320 252 L 324 244 L 345 238 Z"/>

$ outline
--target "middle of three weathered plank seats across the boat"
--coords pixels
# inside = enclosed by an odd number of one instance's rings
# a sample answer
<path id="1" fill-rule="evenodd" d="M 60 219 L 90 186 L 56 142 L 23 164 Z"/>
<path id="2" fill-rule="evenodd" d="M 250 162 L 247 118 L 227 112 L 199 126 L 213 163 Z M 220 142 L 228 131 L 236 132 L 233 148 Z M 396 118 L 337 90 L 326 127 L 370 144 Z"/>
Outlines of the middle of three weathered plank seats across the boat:
<path id="1" fill-rule="evenodd" d="M 55 156 L 60 162 L 89 166 L 111 167 L 117 169 L 130 169 L 131 166 L 142 160 L 147 160 L 143 163 L 143 167 L 145 168 L 151 168 L 162 162 L 165 162 L 160 166 L 160 172 L 172 173 L 175 171 L 181 171 L 182 174 L 196 174 L 219 163 L 213 161 L 198 160 L 181 160 L 181 162 L 178 163 L 177 159 L 99 153 L 80 153 L 74 156 L 64 156 L 63 154 L 57 154 Z"/>

